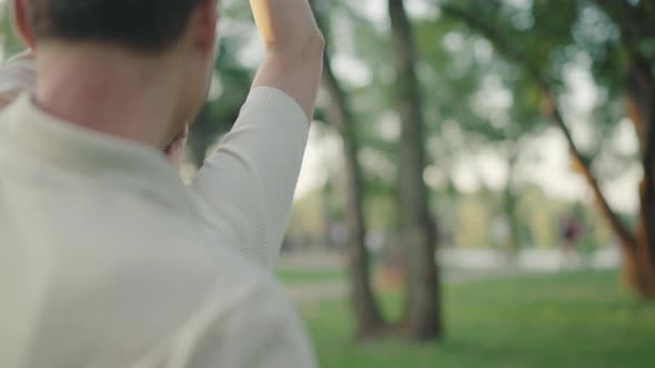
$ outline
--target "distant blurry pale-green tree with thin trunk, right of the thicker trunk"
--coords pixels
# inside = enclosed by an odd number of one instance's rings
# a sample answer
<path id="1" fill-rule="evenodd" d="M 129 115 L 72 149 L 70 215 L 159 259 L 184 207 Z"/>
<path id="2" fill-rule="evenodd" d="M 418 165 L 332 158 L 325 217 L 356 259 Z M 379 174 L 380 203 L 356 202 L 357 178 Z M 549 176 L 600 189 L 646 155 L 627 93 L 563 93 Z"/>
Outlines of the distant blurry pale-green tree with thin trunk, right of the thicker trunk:
<path id="1" fill-rule="evenodd" d="M 430 101 L 424 109 L 427 116 L 440 120 L 427 123 L 432 164 L 443 167 L 457 152 L 492 147 L 506 162 L 503 203 L 491 211 L 506 219 L 510 232 L 505 245 L 513 255 L 521 243 L 516 167 L 532 160 L 524 155 L 526 143 L 547 126 L 546 119 L 533 108 L 540 103 L 541 92 L 517 78 L 516 68 L 494 55 L 488 42 L 470 34 L 462 22 L 427 18 L 415 24 L 421 62 L 429 67 L 421 74 Z M 461 131 L 463 141 L 456 143 L 450 134 L 442 137 L 445 129 Z"/>

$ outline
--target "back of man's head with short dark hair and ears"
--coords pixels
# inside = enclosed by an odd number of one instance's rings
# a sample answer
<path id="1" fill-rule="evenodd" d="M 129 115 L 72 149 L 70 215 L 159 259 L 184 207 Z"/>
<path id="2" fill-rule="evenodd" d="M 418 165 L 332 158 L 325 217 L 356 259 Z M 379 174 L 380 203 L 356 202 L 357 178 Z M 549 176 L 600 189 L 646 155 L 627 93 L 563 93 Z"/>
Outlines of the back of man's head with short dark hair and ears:
<path id="1" fill-rule="evenodd" d="M 134 70 L 139 67 L 139 81 L 174 91 L 174 100 L 161 101 L 171 110 L 162 121 L 165 137 L 158 142 L 162 149 L 185 129 L 204 102 L 213 70 L 219 0 L 12 2 L 16 25 L 26 43 L 37 55 L 50 52 L 41 58 L 46 62 L 38 63 L 50 80 L 83 80 L 78 71 L 93 70 L 87 78 L 98 81 L 105 74 L 99 61 L 111 70 L 131 63 Z M 92 68 L 67 68 L 71 55 L 77 63 Z M 52 63 L 59 67 L 54 72 L 49 68 Z M 62 70 L 72 75 L 53 78 Z M 58 90 L 50 86 L 50 91 Z"/>

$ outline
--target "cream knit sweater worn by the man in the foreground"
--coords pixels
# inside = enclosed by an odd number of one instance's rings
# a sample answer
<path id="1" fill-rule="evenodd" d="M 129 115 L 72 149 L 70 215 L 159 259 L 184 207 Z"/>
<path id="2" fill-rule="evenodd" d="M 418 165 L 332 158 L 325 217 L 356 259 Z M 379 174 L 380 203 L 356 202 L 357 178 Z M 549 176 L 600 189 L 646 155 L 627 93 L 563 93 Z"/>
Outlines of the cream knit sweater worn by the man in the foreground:
<path id="1" fill-rule="evenodd" d="M 290 96 L 253 90 L 188 187 L 153 149 L 61 122 L 28 95 L 7 108 L 0 367 L 313 367 L 265 269 L 308 130 Z"/>

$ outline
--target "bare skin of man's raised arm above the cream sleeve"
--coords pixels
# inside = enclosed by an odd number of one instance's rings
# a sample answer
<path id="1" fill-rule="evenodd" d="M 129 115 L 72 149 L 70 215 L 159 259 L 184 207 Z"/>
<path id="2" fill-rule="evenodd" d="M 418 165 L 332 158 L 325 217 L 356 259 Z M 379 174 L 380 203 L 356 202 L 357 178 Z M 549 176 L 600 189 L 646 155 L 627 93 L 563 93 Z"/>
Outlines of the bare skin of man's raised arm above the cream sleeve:
<path id="1" fill-rule="evenodd" d="M 250 0 L 266 53 L 253 86 L 294 99 L 309 119 L 323 70 L 325 41 L 308 0 Z"/>

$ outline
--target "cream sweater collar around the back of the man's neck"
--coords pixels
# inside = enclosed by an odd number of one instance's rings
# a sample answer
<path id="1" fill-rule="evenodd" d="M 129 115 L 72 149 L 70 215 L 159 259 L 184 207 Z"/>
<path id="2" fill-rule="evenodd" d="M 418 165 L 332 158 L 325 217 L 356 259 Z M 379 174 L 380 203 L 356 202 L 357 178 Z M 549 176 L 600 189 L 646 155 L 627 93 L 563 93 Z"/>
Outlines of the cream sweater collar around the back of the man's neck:
<path id="1" fill-rule="evenodd" d="M 40 160 L 105 184 L 131 184 L 191 209 L 190 193 L 162 152 L 141 143 L 66 122 L 39 108 L 28 94 L 4 112 L 16 141 Z"/>

